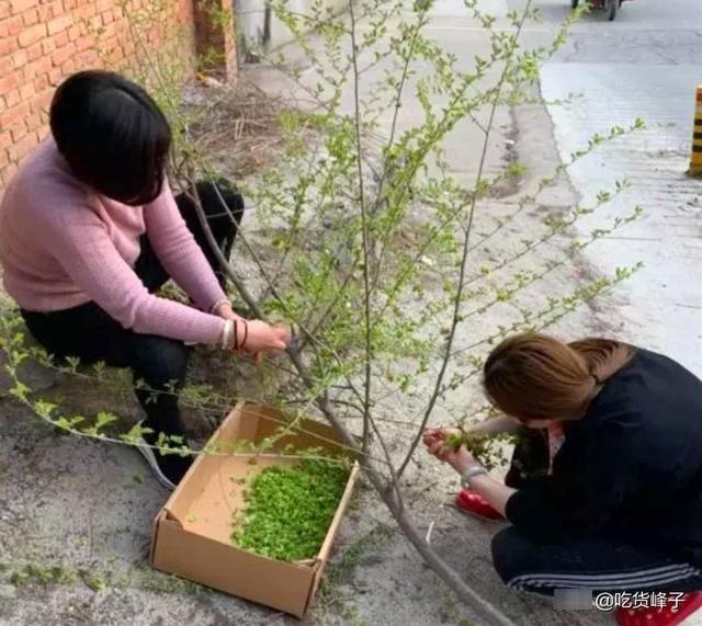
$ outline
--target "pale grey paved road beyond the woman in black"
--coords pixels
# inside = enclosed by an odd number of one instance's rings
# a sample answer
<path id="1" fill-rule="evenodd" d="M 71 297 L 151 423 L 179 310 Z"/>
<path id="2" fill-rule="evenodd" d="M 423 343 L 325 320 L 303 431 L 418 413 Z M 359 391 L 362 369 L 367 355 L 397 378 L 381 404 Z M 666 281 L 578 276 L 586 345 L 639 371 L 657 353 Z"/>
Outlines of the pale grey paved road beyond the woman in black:
<path id="1" fill-rule="evenodd" d="M 542 2 L 544 27 L 568 11 L 565 0 Z M 625 2 L 614 23 L 587 15 L 542 72 L 547 100 L 579 92 L 569 105 L 548 106 L 563 159 L 597 132 L 636 117 L 647 129 L 613 143 L 570 170 L 584 203 L 626 178 L 626 191 L 581 231 L 642 205 L 645 218 L 597 243 L 588 260 L 600 270 L 643 261 L 645 269 L 601 314 L 611 332 L 666 351 L 702 375 L 702 182 L 689 164 L 694 88 L 702 84 L 702 3 Z"/>

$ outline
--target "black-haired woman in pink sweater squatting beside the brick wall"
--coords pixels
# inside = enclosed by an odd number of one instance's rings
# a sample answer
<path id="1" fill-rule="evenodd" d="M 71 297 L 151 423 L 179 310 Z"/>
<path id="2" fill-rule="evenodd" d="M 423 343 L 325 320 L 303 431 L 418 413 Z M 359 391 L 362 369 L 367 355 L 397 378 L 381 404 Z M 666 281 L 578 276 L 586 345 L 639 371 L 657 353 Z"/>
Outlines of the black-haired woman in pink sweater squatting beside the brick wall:
<path id="1" fill-rule="evenodd" d="M 161 432 L 183 435 L 178 390 L 189 345 L 281 351 L 288 333 L 233 311 L 192 202 L 177 201 L 166 180 L 168 122 L 140 87 L 111 72 L 77 73 L 56 91 L 50 128 L 2 201 L 4 287 L 49 353 L 129 367 L 145 384 L 136 395 L 154 431 L 146 444 Z M 241 197 L 224 183 L 199 191 L 228 253 Z M 222 216 L 220 198 L 230 215 Z M 192 307 L 155 295 L 169 278 Z M 191 463 L 139 449 L 169 488 Z"/>

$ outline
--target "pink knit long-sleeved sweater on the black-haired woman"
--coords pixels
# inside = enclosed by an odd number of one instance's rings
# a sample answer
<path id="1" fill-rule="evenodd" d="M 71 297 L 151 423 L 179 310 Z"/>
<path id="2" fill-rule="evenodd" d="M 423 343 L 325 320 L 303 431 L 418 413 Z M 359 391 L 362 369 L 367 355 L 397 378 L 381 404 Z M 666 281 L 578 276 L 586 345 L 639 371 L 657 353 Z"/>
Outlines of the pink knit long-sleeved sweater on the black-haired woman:
<path id="1" fill-rule="evenodd" d="M 224 297 L 168 185 L 149 205 L 114 202 L 78 182 L 48 139 L 10 182 L 0 206 L 5 291 L 26 310 L 93 300 L 136 332 L 216 343 L 222 318 L 149 294 L 134 273 L 145 232 L 169 275 L 202 310 Z"/>

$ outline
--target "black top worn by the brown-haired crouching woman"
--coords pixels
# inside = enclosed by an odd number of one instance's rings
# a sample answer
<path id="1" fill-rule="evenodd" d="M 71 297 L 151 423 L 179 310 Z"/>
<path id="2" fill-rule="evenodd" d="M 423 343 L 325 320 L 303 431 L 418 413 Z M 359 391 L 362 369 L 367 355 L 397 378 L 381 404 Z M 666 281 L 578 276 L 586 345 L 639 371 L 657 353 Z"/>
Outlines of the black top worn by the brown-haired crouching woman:
<path id="1" fill-rule="evenodd" d="M 638 350 L 582 420 L 566 422 L 553 475 L 507 503 L 540 540 L 611 538 L 702 566 L 702 382 Z"/>

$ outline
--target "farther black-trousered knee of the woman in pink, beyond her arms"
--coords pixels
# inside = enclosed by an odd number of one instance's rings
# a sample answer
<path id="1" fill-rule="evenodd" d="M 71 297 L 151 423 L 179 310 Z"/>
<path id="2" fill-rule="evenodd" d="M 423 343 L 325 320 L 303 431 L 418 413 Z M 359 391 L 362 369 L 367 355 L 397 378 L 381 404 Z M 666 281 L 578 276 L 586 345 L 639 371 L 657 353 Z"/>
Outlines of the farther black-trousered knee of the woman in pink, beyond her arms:
<path id="1" fill-rule="evenodd" d="M 212 235 L 222 253 L 226 259 L 229 259 L 238 227 L 244 217 L 244 197 L 226 179 L 217 179 L 214 183 L 201 181 L 195 186 Z M 224 201 L 224 206 L 222 201 Z M 222 271 L 217 254 L 212 250 L 210 241 L 207 241 L 207 236 L 197 217 L 194 202 L 188 195 L 179 194 L 176 196 L 176 203 L 189 230 L 193 234 L 195 241 L 202 248 L 205 258 L 214 270 L 219 284 L 225 287 L 225 273 Z"/>

